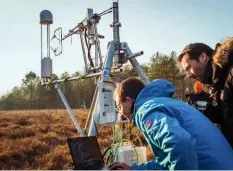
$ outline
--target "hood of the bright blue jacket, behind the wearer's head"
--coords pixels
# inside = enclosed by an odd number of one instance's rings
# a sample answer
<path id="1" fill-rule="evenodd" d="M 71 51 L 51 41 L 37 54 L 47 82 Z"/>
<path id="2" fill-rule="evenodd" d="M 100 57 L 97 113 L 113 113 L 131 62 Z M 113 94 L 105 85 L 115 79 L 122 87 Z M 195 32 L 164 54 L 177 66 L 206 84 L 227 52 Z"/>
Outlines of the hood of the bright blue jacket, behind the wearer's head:
<path id="1" fill-rule="evenodd" d="M 172 97 L 175 92 L 173 84 L 164 79 L 156 79 L 148 84 L 135 101 L 134 113 L 148 100 L 156 97 Z"/>

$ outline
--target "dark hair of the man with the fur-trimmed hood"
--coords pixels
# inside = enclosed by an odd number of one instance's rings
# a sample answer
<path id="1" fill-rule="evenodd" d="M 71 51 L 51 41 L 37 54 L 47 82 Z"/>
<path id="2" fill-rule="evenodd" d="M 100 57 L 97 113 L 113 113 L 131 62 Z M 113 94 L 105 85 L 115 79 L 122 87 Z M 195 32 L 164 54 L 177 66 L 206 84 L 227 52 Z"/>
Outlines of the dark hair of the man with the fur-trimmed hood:
<path id="1" fill-rule="evenodd" d="M 178 56 L 178 62 L 181 62 L 184 55 L 188 55 L 190 60 L 199 60 L 201 53 L 206 53 L 207 56 L 212 58 L 214 50 L 204 43 L 190 43 L 188 44 L 181 54 Z"/>

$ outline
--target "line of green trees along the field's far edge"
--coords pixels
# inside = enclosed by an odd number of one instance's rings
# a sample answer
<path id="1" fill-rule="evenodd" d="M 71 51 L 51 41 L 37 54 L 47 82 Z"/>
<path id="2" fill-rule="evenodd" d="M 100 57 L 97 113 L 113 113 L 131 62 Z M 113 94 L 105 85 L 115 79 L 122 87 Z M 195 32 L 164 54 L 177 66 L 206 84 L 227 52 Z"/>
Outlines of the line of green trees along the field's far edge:
<path id="1" fill-rule="evenodd" d="M 164 78 L 171 81 L 175 88 L 174 97 L 185 99 L 185 93 L 192 90 L 193 80 L 185 79 L 176 63 L 176 53 L 168 55 L 155 53 L 150 62 L 141 65 L 148 78 L 152 81 Z M 80 76 L 81 72 L 69 74 L 64 72 L 61 76 L 53 74 L 53 79 L 65 79 Z M 124 66 L 121 73 L 122 79 L 137 76 L 131 64 Z M 97 80 L 95 78 L 82 79 L 61 84 L 61 89 L 71 108 L 89 108 L 95 92 Z M 0 110 L 25 110 L 25 109 L 64 109 L 65 106 L 60 96 L 52 85 L 49 88 L 41 86 L 38 75 L 30 71 L 22 79 L 20 86 L 15 86 L 10 92 L 0 98 Z"/>

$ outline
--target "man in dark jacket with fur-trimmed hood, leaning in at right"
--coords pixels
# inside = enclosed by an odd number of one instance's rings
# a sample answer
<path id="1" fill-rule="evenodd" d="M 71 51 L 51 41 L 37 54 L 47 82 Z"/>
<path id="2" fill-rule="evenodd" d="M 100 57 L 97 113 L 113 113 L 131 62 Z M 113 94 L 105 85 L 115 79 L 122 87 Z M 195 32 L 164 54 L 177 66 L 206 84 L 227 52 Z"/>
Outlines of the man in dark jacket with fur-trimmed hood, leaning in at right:
<path id="1" fill-rule="evenodd" d="M 221 108 L 222 132 L 233 148 L 233 37 L 216 45 L 187 45 L 178 61 L 189 78 L 213 88 L 212 94 Z"/>

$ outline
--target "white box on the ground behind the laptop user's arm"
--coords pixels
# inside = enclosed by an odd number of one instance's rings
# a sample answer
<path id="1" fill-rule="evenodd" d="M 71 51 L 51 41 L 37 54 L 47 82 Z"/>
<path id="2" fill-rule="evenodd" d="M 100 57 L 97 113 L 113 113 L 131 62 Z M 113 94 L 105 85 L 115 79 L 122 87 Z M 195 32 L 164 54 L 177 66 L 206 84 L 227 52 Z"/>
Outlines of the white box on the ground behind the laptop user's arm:
<path id="1" fill-rule="evenodd" d="M 145 163 L 147 161 L 146 147 L 133 147 L 132 145 L 123 145 L 119 147 L 117 161 L 124 162 L 130 166 L 134 163 Z"/>

